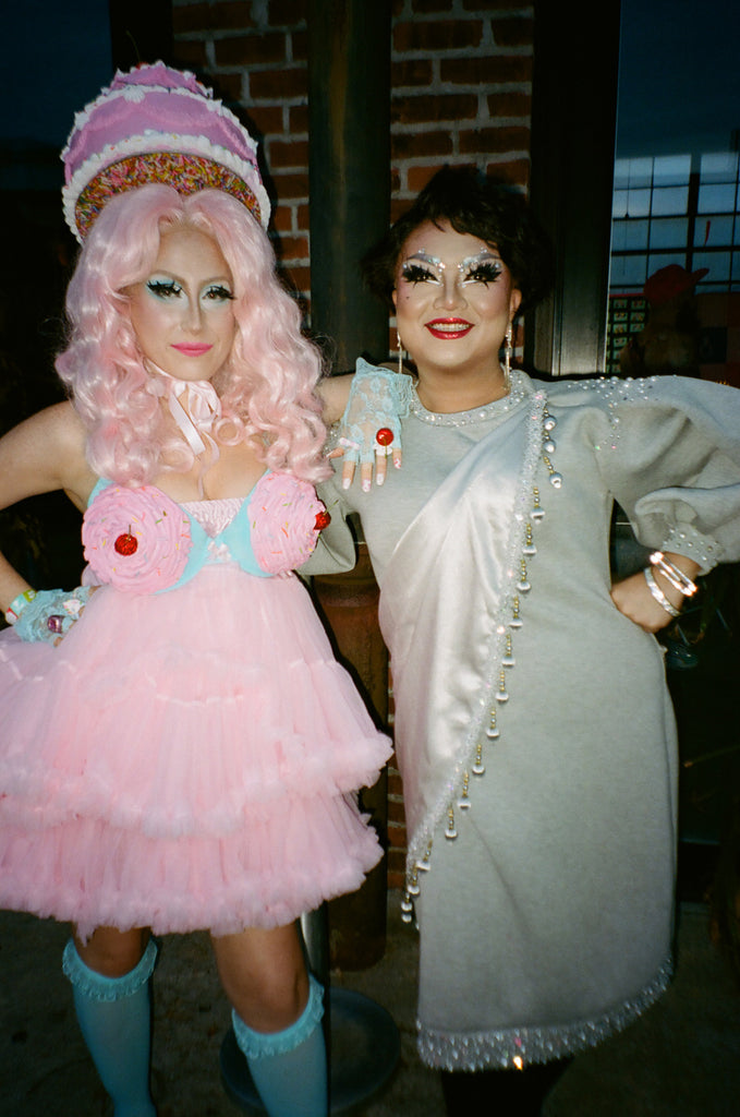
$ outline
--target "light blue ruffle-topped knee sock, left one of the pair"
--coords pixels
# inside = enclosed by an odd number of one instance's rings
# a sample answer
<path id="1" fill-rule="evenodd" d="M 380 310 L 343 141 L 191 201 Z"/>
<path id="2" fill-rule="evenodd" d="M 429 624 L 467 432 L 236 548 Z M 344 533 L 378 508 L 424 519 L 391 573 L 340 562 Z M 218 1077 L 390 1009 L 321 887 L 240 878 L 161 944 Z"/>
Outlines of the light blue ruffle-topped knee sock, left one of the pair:
<path id="1" fill-rule="evenodd" d="M 73 939 L 63 970 L 74 987 L 77 1020 L 113 1098 L 115 1117 L 156 1117 L 150 1094 L 152 1010 L 148 981 L 156 963 L 150 939 L 141 962 L 123 977 L 105 977 L 85 965 Z"/>

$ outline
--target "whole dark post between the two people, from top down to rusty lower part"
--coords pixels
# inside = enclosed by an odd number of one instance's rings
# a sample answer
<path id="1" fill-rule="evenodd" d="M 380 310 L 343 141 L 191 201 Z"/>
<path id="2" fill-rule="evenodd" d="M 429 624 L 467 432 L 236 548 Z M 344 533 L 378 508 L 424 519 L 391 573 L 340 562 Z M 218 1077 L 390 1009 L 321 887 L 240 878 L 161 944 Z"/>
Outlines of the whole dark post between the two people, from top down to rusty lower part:
<path id="1" fill-rule="evenodd" d="M 387 354 L 387 311 L 363 289 L 359 261 L 390 223 L 390 0 L 309 0 L 311 331 L 335 346 L 336 372 Z M 387 659 L 366 552 L 350 574 L 315 579 L 315 592 L 340 658 L 385 722 Z M 385 774 L 363 803 L 385 840 Z M 385 917 L 383 861 L 358 892 L 329 905 L 333 964 L 361 970 L 382 957 Z"/>

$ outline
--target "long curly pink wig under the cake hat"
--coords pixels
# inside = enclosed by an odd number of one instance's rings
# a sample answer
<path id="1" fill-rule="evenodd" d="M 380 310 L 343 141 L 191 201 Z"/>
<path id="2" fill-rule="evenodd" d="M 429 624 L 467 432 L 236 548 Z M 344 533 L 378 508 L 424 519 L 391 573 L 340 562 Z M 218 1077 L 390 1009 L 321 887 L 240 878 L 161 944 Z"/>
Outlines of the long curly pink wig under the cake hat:
<path id="1" fill-rule="evenodd" d="M 227 445 L 257 436 L 270 469 L 324 479 L 331 470 L 321 457 L 326 429 L 314 392 L 321 359 L 300 333 L 300 312 L 277 277 L 267 235 L 222 191 L 183 198 L 158 184 L 106 204 L 67 293 L 71 332 L 57 371 L 88 430 L 92 468 L 119 485 L 143 485 L 164 462 L 183 471 L 193 464 L 184 441 L 166 431 L 125 295 L 153 270 L 161 235 L 180 226 L 212 236 L 233 278 L 238 332 L 213 381 L 223 410 L 215 432 Z"/>

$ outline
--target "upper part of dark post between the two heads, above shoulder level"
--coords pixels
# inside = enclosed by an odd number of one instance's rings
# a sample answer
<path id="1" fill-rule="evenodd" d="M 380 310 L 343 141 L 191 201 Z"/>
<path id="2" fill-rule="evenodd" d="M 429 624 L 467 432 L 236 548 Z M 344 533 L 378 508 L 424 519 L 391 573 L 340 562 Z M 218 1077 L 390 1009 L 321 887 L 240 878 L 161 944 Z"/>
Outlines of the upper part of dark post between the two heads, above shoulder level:
<path id="1" fill-rule="evenodd" d="M 390 0 L 309 0 L 311 327 L 334 371 L 387 355 L 387 313 L 358 262 L 388 227 Z"/>

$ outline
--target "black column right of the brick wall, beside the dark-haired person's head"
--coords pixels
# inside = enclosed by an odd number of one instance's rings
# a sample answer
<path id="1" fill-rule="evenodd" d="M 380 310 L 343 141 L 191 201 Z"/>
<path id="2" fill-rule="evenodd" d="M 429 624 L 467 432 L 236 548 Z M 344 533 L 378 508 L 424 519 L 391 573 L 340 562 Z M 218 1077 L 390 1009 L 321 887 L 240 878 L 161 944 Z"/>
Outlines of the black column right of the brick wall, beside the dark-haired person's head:
<path id="1" fill-rule="evenodd" d="M 618 58 L 619 0 L 536 0 L 530 192 L 556 280 L 525 361 L 556 376 L 605 367 Z"/>

